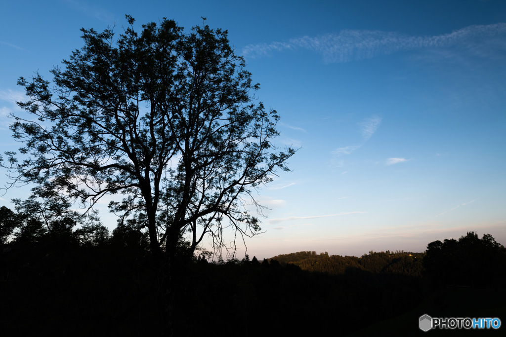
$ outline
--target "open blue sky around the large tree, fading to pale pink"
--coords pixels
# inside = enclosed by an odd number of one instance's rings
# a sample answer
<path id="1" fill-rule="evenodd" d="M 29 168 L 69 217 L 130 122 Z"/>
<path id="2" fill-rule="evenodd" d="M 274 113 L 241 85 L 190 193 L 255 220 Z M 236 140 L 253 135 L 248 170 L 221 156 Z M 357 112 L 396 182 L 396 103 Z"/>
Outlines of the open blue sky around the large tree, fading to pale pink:
<path id="1" fill-rule="evenodd" d="M 49 70 L 101 31 L 172 18 L 206 23 L 281 115 L 278 146 L 300 148 L 265 186 L 259 258 L 424 251 L 467 231 L 506 244 L 504 1 L 19 1 L 0 13 L 0 150 L 18 145 L 19 76 Z M 7 178 L 5 178 L 7 181 Z M 0 204 L 24 198 L 11 189 Z M 104 222 L 114 223 L 106 209 Z M 112 226 L 111 226 L 112 228 Z"/>

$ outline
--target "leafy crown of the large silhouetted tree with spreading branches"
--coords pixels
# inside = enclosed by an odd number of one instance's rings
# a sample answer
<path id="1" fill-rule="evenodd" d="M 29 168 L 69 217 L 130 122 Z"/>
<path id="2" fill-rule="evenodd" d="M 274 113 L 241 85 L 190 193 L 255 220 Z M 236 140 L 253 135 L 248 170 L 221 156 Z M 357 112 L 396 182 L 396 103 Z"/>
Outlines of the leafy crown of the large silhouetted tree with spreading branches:
<path id="1" fill-rule="evenodd" d="M 255 102 L 244 59 L 227 31 L 208 25 L 185 33 L 173 20 L 128 27 L 81 29 L 84 46 L 53 83 L 38 73 L 20 77 L 29 99 L 18 105 L 35 119 L 15 116 L 19 158 L 3 166 L 12 185 L 36 183 L 86 209 L 105 195 L 118 227 L 147 228 L 153 253 L 173 253 L 185 236 L 190 252 L 206 235 L 224 247 L 260 230 L 245 208 L 252 191 L 272 180 L 295 151 L 273 144 L 279 115 Z M 43 192 L 41 192 L 43 191 Z"/>

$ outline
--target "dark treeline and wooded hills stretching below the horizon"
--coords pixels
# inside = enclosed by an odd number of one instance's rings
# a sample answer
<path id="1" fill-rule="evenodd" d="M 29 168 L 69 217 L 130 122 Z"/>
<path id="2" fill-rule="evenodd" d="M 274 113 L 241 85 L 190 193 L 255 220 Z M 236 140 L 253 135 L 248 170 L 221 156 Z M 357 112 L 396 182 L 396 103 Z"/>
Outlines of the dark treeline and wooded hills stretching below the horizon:
<path id="1" fill-rule="evenodd" d="M 159 334 L 160 270 L 145 234 L 128 226 L 112 233 L 100 224 L 76 228 L 71 218 L 45 227 L 40 219 L 0 211 L 3 334 Z M 181 242 L 182 255 L 186 247 Z M 202 336 L 329 329 L 347 335 L 413 311 L 448 285 L 500 288 L 505 266 L 504 247 L 474 232 L 430 243 L 425 253 L 299 252 L 227 262 L 200 254 L 173 266 L 173 329 Z M 419 331 L 424 313 L 416 312 L 412 331 Z"/>

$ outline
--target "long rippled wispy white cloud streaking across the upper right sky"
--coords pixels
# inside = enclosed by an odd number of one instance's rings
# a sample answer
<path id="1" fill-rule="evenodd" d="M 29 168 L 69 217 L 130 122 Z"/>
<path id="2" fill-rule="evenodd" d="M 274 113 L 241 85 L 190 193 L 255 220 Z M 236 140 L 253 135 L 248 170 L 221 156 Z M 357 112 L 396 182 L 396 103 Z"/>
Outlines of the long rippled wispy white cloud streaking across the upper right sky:
<path id="1" fill-rule="evenodd" d="M 345 63 L 400 51 L 469 45 L 476 40 L 504 33 L 506 23 L 468 26 L 434 36 L 413 36 L 379 30 L 342 30 L 339 34 L 303 36 L 285 42 L 249 44 L 242 49 L 242 54 L 248 58 L 257 58 L 273 52 L 306 49 L 321 54 L 327 63 Z M 502 41 L 506 44 L 504 40 Z"/>

